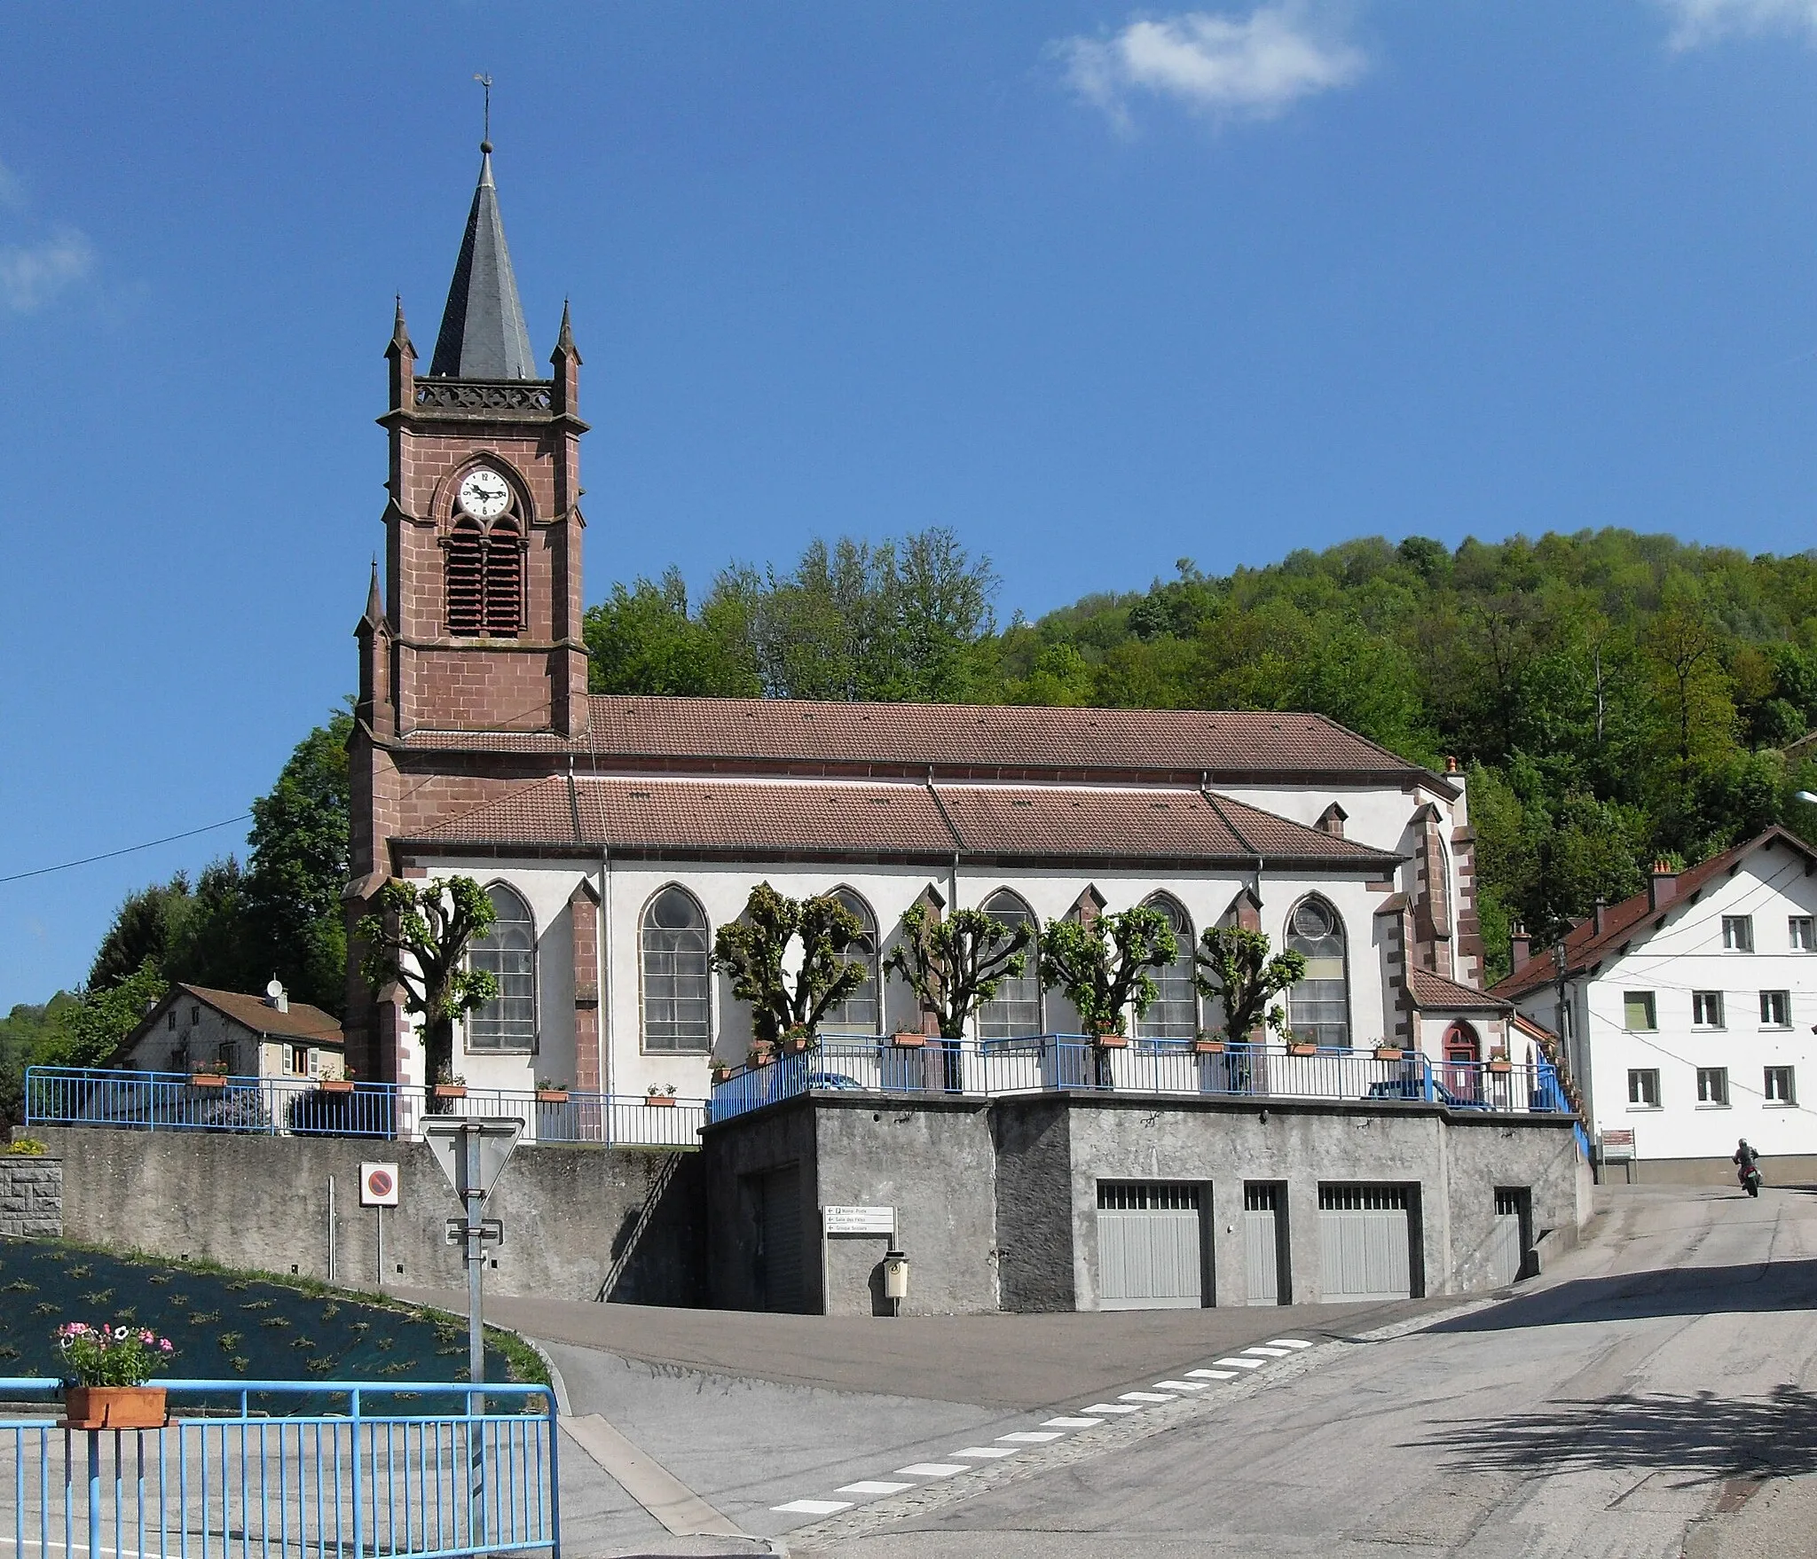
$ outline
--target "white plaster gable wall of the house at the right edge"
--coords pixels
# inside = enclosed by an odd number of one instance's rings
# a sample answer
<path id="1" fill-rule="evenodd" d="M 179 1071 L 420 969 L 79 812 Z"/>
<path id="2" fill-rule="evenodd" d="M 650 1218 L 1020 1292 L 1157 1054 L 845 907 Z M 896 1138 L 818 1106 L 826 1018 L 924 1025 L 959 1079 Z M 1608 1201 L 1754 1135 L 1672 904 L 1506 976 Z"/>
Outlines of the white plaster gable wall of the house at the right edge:
<path id="1" fill-rule="evenodd" d="M 1753 952 L 1723 950 L 1724 914 L 1753 916 Z M 1626 956 L 1583 981 L 1588 1108 L 1599 1132 L 1632 1128 L 1644 1159 L 1728 1157 L 1737 1137 L 1762 1154 L 1817 1152 L 1817 952 L 1790 948 L 1786 919 L 1799 914 L 1817 914 L 1817 878 L 1786 850 L 1757 850 L 1695 905 L 1668 905 L 1663 930 L 1637 936 Z M 1653 992 L 1657 1032 L 1624 1027 L 1628 990 Z M 1692 1025 L 1695 990 L 1723 992 L 1721 1030 Z M 1790 1028 L 1761 1025 L 1761 990 L 1792 992 Z M 1523 1003 L 1543 1023 L 1554 1008 L 1552 990 Z M 1728 1107 L 1697 1103 L 1699 1067 L 1728 1068 Z M 1764 1103 L 1766 1067 L 1795 1068 L 1797 1107 Z M 1657 1110 L 1628 1103 L 1630 1068 L 1659 1072 Z"/>

